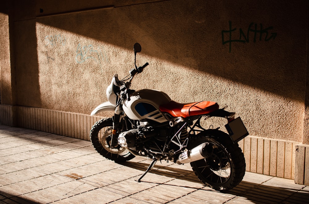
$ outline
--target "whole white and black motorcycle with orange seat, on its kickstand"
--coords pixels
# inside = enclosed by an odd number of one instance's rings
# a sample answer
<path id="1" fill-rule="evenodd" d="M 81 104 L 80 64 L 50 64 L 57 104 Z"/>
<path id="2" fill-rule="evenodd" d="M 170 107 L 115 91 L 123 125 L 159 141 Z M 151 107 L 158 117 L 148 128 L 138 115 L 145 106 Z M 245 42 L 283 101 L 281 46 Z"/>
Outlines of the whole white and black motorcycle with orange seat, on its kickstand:
<path id="1" fill-rule="evenodd" d="M 177 103 L 164 92 L 150 89 L 130 89 L 135 75 L 148 66 L 136 65 L 123 80 L 115 74 L 106 90 L 108 101 L 100 104 L 91 116 L 102 111 L 114 111 L 114 116 L 97 121 L 91 128 L 90 140 L 103 157 L 115 161 L 129 161 L 135 156 L 152 160 L 148 173 L 159 160 L 177 164 L 190 163 L 194 173 L 206 186 L 215 190 L 229 190 L 241 182 L 246 163 L 238 141 L 248 131 L 235 112 L 219 108 L 218 103 L 199 101 Z M 201 119 L 222 117 L 228 133 L 219 127 L 205 129 Z"/>

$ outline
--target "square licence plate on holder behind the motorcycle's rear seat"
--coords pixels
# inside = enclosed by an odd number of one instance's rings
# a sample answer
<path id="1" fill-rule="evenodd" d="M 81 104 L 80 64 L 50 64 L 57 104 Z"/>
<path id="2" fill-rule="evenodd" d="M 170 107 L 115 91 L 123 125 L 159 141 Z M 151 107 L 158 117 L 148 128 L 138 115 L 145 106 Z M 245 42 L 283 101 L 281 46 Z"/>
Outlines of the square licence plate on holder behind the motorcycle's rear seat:
<path id="1" fill-rule="evenodd" d="M 226 124 L 225 128 L 234 142 L 239 142 L 249 135 L 248 130 L 240 117 Z"/>

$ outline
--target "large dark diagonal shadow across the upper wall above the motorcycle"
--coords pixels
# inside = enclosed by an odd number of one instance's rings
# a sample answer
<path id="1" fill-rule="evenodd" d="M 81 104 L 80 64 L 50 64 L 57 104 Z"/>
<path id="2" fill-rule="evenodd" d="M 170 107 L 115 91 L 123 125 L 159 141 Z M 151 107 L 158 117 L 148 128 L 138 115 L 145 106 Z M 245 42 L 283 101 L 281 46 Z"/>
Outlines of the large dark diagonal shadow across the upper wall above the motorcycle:
<path id="1" fill-rule="evenodd" d="M 37 22 L 303 102 L 307 4 L 163 1 Z"/>

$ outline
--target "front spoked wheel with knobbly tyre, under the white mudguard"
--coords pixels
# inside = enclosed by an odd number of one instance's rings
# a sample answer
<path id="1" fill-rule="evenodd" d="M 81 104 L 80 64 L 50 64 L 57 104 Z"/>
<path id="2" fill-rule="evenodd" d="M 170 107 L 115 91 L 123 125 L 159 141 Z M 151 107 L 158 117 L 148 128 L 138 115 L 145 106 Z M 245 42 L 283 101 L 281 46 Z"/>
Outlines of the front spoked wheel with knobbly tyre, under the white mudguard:
<path id="1" fill-rule="evenodd" d="M 103 157 L 113 161 L 129 161 L 135 156 L 127 149 L 118 145 L 111 148 L 112 118 L 97 121 L 90 130 L 90 141 L 95 150 Z"/>

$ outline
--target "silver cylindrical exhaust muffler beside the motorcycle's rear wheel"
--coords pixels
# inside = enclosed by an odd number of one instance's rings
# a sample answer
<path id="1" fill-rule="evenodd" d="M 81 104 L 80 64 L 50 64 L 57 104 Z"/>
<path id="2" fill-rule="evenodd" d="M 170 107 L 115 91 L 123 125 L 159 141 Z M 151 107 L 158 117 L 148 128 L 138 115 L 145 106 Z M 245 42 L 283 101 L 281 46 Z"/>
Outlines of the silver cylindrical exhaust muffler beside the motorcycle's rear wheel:
<path id="1" fill-rule="evenodd" d="M 176 163 L 186 164 L 200 159 L 205 159 L 210 157 L 211 153 L 212 153 L 212 145 L 210 145 L 209 143 L 203 143 L 201 145 L 198 145 L 197 147 L 194 147 L 191 150 L 181 153 L 178 159 L 176 160 Z"/>

